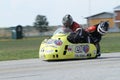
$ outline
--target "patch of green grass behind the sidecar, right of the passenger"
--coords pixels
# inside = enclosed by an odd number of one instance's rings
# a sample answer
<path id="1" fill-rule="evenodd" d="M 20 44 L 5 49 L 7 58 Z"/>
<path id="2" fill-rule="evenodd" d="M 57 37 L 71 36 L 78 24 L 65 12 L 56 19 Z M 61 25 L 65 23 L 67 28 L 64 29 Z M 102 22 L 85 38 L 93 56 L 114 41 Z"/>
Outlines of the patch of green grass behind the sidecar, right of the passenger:
<path id="1" fill-rule="evenodd" d="M 101 42 L 101 52 L 120 52 L 120 33 L 108 33 L 103 36 Z"/>

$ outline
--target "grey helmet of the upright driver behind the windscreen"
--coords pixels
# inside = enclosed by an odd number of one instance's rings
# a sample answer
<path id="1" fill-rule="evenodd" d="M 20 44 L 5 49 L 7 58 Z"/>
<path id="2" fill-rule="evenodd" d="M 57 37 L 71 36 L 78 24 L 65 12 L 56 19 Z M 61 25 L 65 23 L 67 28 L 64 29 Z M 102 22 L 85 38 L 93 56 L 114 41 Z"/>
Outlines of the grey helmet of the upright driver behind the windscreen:
<path id="1" fill-rule="evenodd" d="M 73 24 L 73 18 L 72 18 L 72 16 L 70 14 L 65 15 L 63 17 L 62 23 L 63 23 L 63 25 L 66 28 L 70 28 L 71 25 Z"/>

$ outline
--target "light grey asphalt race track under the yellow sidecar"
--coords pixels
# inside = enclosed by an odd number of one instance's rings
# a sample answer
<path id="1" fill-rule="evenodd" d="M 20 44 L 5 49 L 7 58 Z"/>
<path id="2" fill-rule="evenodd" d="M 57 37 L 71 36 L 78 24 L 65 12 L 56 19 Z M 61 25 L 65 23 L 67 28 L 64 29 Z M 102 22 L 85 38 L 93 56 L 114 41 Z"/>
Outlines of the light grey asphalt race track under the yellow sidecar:
<path id="1" fill-rule="evenodd" d="M 120 80 L 120 53 L 102 54 L 98 59 L 58 62 L 1 61 L 0 80 Z"/>

